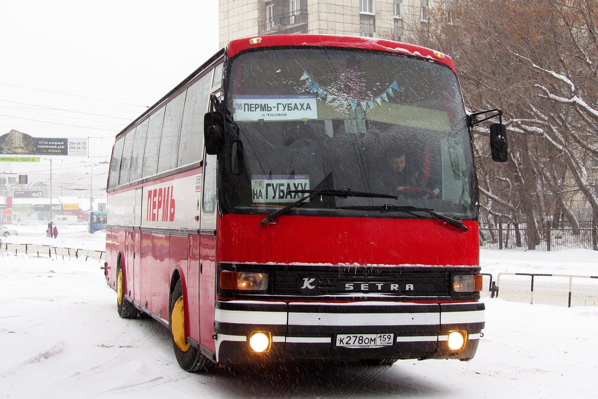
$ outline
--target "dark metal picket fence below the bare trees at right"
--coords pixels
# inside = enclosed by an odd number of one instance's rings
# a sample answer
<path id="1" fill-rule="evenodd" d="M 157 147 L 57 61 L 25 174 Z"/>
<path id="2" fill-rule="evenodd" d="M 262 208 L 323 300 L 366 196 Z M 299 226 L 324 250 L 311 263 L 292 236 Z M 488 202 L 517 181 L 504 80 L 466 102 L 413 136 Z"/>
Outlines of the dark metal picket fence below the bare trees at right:
<path id="1" fill-rule="evenodd" d="M 596 221 L 579 223 L 579 229 L 568 226 L 551 227 L 547 223 L 538 229 L 539 243 L 530 248 L 525 223 L 497 223 L 495 227 L 480 228 L 480 248 L 483 249 L 593 249 L 598 251 Z"/>

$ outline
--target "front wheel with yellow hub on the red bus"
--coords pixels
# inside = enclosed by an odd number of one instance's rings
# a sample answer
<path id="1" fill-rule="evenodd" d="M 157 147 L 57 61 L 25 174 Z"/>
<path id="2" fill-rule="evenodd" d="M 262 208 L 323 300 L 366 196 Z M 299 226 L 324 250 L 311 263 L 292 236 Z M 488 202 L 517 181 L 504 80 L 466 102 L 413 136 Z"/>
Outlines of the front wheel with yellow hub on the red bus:
<path id="1" fill-rule="evenodd" d="M 183 285 L 179 280 L 170 296 L 169 325 L 172 348 L 175 351 L 176 361 L 183 370 L 190 373 L 203 373 L 215 364 L 202 355 L 198 348 L 187 343 L 184 305 Z"/>

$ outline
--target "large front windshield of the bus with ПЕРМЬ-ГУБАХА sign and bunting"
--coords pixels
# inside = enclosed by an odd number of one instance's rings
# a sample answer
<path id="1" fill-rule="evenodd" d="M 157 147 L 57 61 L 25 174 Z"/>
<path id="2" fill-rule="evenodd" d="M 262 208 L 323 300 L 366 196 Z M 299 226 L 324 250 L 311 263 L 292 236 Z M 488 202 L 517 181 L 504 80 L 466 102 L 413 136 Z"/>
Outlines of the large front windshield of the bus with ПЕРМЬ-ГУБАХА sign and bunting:
<path id="1" fill-rule="evenodd" d="M 347 49 L 252 51 L 231 63 L 225 102 L 227 212 L 267 214 L 330 189 L 385 195 L 313 197 L 293 214 L 412 218 L 389 209 L 417 206 L 477 217 L 465 108 L 446 65 Z M 386 205 L 395 207 L 379 211 Z"/>

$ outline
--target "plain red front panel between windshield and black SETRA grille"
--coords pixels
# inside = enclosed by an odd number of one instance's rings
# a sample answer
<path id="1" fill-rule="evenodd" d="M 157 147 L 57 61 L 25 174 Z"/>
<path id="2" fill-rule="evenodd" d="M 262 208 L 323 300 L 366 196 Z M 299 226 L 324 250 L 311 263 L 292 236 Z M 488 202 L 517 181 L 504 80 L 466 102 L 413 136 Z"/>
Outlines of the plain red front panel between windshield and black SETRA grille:
<path id="1" fill-rule="evenodd" d="M 478 266 L 478 223 L 467 232 L 434 220 L 228 214 L 218 223 L 218 261 Z"/>

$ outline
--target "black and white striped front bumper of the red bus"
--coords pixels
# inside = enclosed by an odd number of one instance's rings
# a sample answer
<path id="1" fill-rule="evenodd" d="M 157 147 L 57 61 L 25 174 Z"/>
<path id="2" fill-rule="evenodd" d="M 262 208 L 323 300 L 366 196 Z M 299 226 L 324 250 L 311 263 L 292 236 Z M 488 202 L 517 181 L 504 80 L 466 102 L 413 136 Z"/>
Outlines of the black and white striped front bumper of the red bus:
<path id="1" fill-rule="evenodd" d="M 460 359 L 474 357 L 484 328 L 484 304 L 283 303 L 216 301 L 214 331 L 219 362 L 264 359 Z M 269 351 L 249 348 L 254 331 L 271 334 Z M 466 331 L 465 346 L 451 351 L 450 331 Z M 337 334 L 394 334 L 381 348 L 336 345 Z"/>

